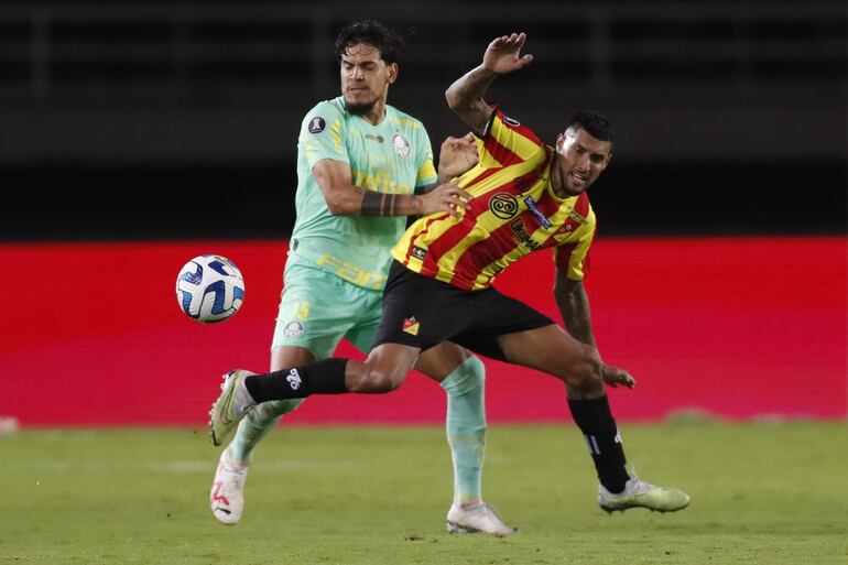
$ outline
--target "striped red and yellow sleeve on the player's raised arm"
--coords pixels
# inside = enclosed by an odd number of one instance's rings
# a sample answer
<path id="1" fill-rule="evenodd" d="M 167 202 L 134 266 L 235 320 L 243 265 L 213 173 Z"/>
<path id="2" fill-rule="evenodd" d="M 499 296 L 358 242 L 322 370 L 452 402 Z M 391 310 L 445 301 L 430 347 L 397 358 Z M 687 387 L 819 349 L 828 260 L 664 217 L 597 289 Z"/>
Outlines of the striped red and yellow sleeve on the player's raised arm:
<path id="1" fill-rule="evenodd" d="M 509 166 L 545 154 L 539 137 L 498 107 L 492 108 L 482 138 L 477 138 L 477 150 L 485 169 Z"/>

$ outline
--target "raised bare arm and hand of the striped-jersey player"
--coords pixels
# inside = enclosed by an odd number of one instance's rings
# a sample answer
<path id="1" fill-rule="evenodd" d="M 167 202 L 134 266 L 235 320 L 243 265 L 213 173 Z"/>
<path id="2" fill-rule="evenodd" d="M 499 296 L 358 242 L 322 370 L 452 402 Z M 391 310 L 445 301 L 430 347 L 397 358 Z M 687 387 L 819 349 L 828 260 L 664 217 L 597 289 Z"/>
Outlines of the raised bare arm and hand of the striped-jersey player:
<path id="1" fill-rule="evenodd" d="M 507 75 L 529 65 L 533 55 L 521 55 L 526 34 L 513 33 L 494 39 L 486 48 L 482 63 L 458 78 L 445 91 L 447 106 L 481 135 L 491 117 L 491 108 L 483 95 L 498 75 Z"/>

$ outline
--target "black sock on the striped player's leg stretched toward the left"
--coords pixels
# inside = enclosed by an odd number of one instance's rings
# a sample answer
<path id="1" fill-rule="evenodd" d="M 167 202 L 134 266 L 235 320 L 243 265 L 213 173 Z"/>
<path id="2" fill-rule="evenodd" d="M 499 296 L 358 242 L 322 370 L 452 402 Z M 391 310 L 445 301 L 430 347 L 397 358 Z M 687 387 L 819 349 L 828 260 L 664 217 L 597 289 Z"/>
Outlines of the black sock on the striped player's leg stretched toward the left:
<path id="1" fill-rule="evenodd" d="M 340 394 L 347 392 L 346 367 L 347 359 L 331 357 L 268 374 L 252 374 L 244 379 L 244 387 L 257 403 L 305 399 L 309 394 Z"/>

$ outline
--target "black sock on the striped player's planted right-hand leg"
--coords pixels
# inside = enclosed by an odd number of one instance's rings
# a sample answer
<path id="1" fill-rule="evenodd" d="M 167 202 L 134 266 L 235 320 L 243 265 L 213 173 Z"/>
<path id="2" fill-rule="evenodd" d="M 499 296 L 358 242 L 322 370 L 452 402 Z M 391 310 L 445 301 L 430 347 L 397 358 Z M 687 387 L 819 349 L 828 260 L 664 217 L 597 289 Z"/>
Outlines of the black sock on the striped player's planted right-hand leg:
<path id="1" fill-rule="evenodd" d="M 607 396 L 589 400 L 568 399 L 568 408 L 572 409 L 574 422 L 586 437 L 598 471 L 598 480 L 610 492 L 621 492 L 630 476 L 624 468 L 624 449 L 621 447 L 621 438 Z"/>

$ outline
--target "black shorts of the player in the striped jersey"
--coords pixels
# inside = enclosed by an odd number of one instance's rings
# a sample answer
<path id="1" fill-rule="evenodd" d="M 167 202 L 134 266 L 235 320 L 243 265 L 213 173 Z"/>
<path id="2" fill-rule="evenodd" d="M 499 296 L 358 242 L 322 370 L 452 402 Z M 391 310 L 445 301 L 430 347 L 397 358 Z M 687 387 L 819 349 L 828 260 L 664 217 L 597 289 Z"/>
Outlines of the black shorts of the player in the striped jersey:
<path id="1" fill-rule="evenodd" d="M 383 314 L 374 343 L 428 349 L 454 341 L 477 354 L 505 360 L 498 337 L 550 326 L 554 320 L 493 287 L 466 291 L 392 262 Z"/>

